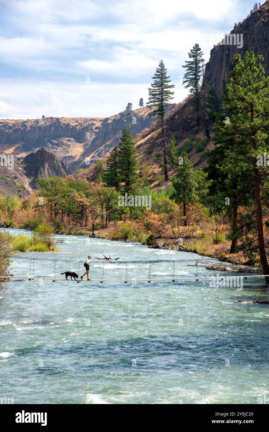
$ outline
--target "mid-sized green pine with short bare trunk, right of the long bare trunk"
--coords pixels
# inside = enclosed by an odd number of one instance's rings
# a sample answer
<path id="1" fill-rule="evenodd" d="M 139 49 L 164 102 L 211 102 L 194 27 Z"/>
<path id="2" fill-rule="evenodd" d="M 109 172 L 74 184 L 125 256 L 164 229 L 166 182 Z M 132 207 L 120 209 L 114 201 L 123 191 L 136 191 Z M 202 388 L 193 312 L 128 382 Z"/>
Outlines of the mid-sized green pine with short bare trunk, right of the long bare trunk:
<path id="1" fill-rule="evenodd" d="M 196 198 L 195 189 L 197 183 L 195 181 L 194 169 L 188 158 L 185 150 L 181 152 L 181 159 L 178 164 L 178 174 L 172 177 L 172 185 L 175 192 L 172 198 L 178 204 L 183 203 L 184 225 L 187 225 L 186 220 L 186 205 L 193 202 Z"/>

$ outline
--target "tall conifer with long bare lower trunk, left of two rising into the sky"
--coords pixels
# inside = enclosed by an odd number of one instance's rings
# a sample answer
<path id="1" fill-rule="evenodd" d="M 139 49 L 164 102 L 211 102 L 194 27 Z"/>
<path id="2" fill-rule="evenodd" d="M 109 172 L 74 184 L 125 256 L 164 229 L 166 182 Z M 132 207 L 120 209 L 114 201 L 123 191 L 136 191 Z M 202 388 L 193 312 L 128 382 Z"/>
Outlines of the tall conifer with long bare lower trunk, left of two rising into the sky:
<path id="1" fill-rule="evenodd" d="M 164 116 L 166 113 L 167 104 L 169 104 L 174 95 L 174 92 L 172 92 L 171 89 L 175 87 L 173 84 L 169 84 L 171 82 L 171 79 L 169 78 L 170 76 L 167 76 L 167 69 L 164 67 L 163 60 L 161 60 L 159 66 L 156 68 L 154 76 L 152 77 L 153 83 L 148 89 L 149 102 L 147 102 L 148 106 L 156 107 L 150 114 L 150 117 L 157 115 L 161 119 L 165 181 L 169 180 L 169 176 L 167 167 L 167 138 Z"/>

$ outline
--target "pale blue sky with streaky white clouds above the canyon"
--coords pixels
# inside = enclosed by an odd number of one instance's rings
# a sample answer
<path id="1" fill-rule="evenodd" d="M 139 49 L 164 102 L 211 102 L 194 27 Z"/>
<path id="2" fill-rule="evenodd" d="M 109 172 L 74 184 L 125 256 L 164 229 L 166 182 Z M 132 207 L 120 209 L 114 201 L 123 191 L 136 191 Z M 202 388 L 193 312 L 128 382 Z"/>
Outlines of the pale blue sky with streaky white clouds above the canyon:
<path id="1" fill-rule="evenodd" d="M 253 0 L 0 0 L 0 118 L 109 117 L 139 108 L 162 59 L 178 103 L 188 52 Z M 263 1 L 261 1 L 263 3 Z"/>

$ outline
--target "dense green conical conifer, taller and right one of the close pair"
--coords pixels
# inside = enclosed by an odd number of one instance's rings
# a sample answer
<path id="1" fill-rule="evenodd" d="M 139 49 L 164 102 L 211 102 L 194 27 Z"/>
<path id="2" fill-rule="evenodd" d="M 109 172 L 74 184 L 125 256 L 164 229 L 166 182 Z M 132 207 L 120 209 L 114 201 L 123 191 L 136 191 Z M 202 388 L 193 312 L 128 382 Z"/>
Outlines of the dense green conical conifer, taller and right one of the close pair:
<path id="1" fill-rule="evenodd" d="M 124 193 L 137 190 L 138 177 L 138 156 L 134 139 L 128 129 L 124 128 L 119 143 L 119 178 L 124 183 Z"/>

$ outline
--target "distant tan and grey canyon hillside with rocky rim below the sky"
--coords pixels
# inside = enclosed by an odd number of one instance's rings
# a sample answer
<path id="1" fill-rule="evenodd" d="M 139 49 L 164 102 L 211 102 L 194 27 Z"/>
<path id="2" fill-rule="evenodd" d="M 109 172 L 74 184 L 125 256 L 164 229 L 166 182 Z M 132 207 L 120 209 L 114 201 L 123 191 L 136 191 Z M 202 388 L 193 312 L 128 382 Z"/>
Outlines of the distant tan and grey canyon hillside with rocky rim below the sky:
<path id="1" fill-rule="evenodd" d="M 119 143 L 124 127 L 133 137 L 149 128 L 155 120 L 149 117 L 150 111 L 144 107 L 109 118 L 47 117 L 43 123 L 39 119 L 0 120 L 0 151 L 23 158 L 44 147 L 74 172 L 106 156 Z"/>

